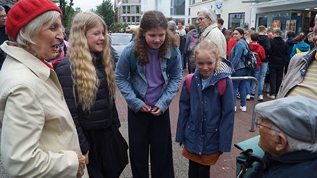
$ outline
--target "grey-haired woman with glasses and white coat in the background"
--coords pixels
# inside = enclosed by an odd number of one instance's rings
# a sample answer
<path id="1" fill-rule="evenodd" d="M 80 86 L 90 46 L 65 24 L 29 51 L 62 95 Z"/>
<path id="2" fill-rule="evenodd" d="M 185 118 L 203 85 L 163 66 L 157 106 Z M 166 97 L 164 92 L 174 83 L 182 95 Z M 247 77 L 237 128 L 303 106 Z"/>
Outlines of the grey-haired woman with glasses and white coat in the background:
<path id="1" fill-rule="evenodd" d="M 201 8 L 198 10 L 196 24 L 201 31 L 200 40 L 211 40 L 217 44 L 219 55 L 226 58 L 226 38 L 217 25 L 217 15 L 212 9 Z"/>

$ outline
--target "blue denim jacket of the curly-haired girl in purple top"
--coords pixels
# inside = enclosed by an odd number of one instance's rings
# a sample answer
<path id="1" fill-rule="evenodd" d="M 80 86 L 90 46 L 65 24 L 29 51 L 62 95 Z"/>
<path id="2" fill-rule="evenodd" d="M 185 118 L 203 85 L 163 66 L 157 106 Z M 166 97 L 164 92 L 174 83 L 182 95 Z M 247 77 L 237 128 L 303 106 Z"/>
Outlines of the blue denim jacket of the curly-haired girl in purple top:
<path id="1" fill-rule="evenodd" d="M 123 49 L 123 52 L 116 65 L 116 83 L 118 89 L 121 91 L 123 97 L 127 101 L 127 106 L 134 112 L 140 110 L 141 106 L 145 103 L 145 95 L 148 88 L 148 81 L 146 79 L 145 65 L 142 65 L 139 60 L 137 61 L 137 70 L 133 75 L 130 75 L 130 54 L 133 49 L 132 42 L 127 44 L 127 47 Z M 160 60 L 162 69 L 162 75 L 164 77 L 164 85 L 160 92 L 160 99 L 155 106 L 161 108 L 165 112 L 171 104 L 171 100 L 176 95 L 176 91 L 180 86 L 182 80 L 182 60 L 180 51 L 178 50 L 178 57 L 171 60 L 177 60 L 176 63 L 172 63 L 174 70 L 171 70 L 169 76 L 167 76 L 167 58 L 170 58 L 170 54 L 166 54 L 163 60 Z"/>

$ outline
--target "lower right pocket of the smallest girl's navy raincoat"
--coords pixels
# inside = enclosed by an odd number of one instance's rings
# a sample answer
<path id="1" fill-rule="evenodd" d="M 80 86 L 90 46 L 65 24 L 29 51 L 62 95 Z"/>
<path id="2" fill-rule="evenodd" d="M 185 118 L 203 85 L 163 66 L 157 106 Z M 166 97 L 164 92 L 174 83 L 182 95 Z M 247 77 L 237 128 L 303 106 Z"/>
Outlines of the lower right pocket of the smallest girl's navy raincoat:
<path id="1" fill-rule="evenodd" d="M 219 130 L 217 125 L 206 126 L 205 148 L 215 150 L 219 147 Z"/>

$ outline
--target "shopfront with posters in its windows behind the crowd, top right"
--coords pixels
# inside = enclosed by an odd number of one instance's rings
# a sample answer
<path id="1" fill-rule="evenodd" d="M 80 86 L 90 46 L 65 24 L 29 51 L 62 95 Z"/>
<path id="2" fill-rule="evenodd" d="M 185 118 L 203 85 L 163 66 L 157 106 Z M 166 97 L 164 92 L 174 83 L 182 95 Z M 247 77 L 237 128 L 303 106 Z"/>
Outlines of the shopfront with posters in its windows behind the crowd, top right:
<path id="1" fill-rule="evenodd" d="M 314 29 L 317 1 L 311 0 L 261 0 L 252 3 L 252 25 L 279 28 L 286 31 L 309 33 Z"/>

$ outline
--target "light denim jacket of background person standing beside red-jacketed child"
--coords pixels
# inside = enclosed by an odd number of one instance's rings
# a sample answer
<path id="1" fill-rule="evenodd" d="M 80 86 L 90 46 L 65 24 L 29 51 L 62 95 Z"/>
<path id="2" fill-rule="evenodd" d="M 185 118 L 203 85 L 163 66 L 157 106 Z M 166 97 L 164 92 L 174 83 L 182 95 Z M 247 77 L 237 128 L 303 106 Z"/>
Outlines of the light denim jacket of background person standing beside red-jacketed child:
<path id="1" fill-rule="evenodd" d="M 245 40 L 239 40 L 235 43 L 233 49 L 230 51 L 230 62 L 233 65 L 235 70 L 240 70 L 245 68 L 245 56 L 247 56 L 247 52 L 249 44 Z"/>

